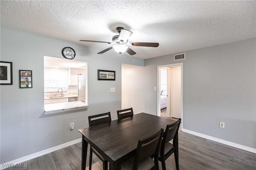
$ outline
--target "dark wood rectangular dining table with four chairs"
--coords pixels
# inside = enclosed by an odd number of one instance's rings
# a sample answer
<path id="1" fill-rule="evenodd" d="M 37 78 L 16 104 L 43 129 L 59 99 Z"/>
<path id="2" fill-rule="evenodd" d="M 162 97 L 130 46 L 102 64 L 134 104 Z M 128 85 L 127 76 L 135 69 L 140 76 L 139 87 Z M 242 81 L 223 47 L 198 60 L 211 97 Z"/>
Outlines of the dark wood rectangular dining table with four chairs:
<path id="1" fill-rule="evenodd" d="M 132 117 L 114 120 L 80 129 L 82 133 L 82 170 L 86 168 L 88 143 L 109 163 L 110 170 L 120 170 L 122 162 L 134 156 L 138 140 L 144 139 L 175 120 L 138 113 Z"/>

